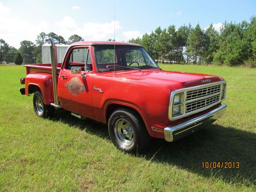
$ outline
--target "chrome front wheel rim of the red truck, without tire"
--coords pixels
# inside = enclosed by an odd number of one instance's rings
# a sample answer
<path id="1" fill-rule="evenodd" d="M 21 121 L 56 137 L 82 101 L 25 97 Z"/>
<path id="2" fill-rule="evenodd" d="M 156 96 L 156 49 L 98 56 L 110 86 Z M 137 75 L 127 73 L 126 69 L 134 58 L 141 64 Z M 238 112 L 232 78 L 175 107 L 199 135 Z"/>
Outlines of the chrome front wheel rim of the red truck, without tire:
<path id="1" fill-rule="evenodd" d="M 114 132 L 117 142 L 122 146 L 130 146 L 134 141 L 133 128 L 128 121 L 123 118 L 115 122 Z"/>

